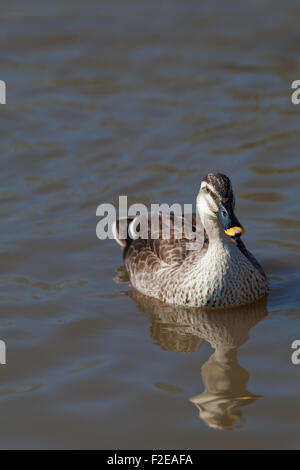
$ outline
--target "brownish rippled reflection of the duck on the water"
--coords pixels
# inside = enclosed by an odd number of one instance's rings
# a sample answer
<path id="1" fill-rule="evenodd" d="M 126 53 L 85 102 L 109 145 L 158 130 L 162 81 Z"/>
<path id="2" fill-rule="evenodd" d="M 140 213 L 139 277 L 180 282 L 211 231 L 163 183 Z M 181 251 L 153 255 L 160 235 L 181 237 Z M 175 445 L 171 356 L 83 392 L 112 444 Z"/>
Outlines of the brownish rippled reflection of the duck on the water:
<path id="1" fill-rule="evenodd" d="M 240 366 L 237 350 L 266 316 L 266 299 L 241 308 L 204 310 L 166 305 L 134 289 L 128 295 L 140 311 L 151 314 L 151 335 L 161 348 L 191 353 L 203 341 L 211 344 L 215 351 L 201 368 L 204 391 L 189 400 L 208 426 L 221 430 L 241 426 L 242 407 L 262 395 L 247 390 L 249 373 Z"/>

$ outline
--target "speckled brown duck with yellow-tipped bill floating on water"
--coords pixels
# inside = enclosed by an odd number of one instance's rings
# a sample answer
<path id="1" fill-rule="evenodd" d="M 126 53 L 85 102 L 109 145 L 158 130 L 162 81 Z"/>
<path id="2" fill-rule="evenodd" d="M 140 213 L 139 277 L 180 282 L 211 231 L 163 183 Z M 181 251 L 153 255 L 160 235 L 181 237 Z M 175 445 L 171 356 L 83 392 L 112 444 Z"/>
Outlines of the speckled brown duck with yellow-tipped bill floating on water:
<path id="1" fill-rule="evenodd" d="M 112 233 L 132 288 L 188 307 L 235 307 L 267 296 L 266 274 L 241 240 L 245 229 L 234 212 L 230 179 L 222 173 L 205 176 L 196 209 L 115 221 Z"/>

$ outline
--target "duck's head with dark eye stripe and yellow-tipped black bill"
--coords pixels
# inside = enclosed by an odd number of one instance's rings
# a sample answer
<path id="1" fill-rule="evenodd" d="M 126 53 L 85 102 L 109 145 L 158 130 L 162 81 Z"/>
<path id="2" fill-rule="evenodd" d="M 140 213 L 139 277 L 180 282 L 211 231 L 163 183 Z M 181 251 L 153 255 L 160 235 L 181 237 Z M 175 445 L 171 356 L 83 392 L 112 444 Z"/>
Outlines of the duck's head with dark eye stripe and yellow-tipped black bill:
<path id="1" fill-rule="evenodd" d="M 204 227 L 205 218 L 219 222 L 226 235 L 239 237 L 245 232 L 234 213 L 235 199 L 230 179 L 222 173 L 209 173 L 201 182 L 197 209 Z"/>

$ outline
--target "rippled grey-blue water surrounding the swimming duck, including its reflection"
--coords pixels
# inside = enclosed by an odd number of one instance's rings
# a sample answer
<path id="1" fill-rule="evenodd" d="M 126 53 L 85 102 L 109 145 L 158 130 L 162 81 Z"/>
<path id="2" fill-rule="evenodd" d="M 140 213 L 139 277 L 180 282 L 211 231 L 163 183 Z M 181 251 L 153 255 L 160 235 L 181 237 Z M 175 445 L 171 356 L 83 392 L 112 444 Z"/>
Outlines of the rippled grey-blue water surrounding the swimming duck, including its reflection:
<path id="1" fill-rule="evenodd" d="M 297 1 L 1 7 L 2 448 L 299 448 Z M 196 314 L 121 283 L 96 208 L 230 176 L 267 304 Z"/>

